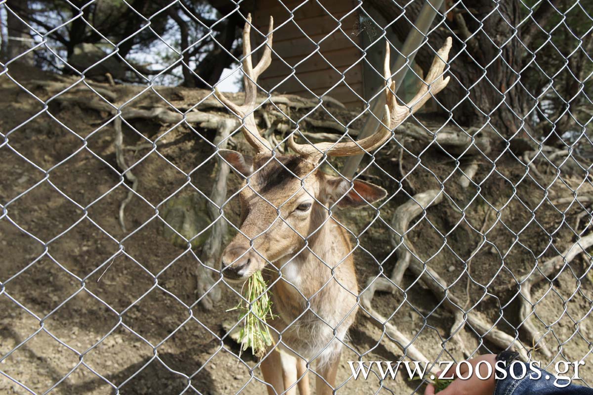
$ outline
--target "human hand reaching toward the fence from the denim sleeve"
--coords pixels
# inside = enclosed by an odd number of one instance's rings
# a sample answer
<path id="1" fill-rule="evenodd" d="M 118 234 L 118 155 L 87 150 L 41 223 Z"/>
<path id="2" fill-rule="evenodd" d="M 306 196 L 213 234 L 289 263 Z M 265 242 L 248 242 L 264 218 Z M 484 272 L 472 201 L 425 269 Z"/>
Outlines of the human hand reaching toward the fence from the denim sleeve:
<path id="1" fill-rule="evenodd" d="M 482 362 L 484 361 L 484 362 Z M 469 359 L 467 362 L 472 367 L 471 377 L 467 380 L 461 380 L 457 377 L 456 368 L 457 365 L 452 365 L 442 377 L 455 377 L 455 380 L 442 391 L 438 392 L 438 395 L 492 395 L 496 387 L 495 381 L 495 364 L 496 355 L 486 354 L 480 355 L 476 358 Z M 480 363 L 482 362 L 482 363 Z M 490 365 L 490 369 L 487 367 Z M 476 369 L 480 371 L 480 377 L 487 377 L 482 380 L 476 375 Z M 467 364 L 461 364 L 459 367 L 459 373 L 461 377 L 467 377 L 469 368 Z M 439 375 L 441 375 L 439 373 Z M 434 395 L 435 386 L 428 384 L 424 395 Z"/>

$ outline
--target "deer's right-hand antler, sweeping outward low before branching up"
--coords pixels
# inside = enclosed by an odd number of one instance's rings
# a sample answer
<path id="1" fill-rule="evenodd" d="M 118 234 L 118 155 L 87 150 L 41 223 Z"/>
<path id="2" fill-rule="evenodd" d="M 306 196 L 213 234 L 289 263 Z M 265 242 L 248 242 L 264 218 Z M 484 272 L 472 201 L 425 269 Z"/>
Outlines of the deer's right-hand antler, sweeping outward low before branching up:
<path id="1" fill-rule="evenodd" d="M 432 95 L 439 93 L 447 86 L 449 78 L 443 78 L 443 72 L 451 50 L 451 37 L 447 37 L 445 45 L 439 49 L 435 59 L 432 61 L 431 69 L 422 82 L 422 87 L 412 100 L 404 106 L 397 104 L 395 83 L 391 81 L 390 51 L 389 42 L 385 44 L 385 63 L 383 73 L 385 78 L 385 114 L 381 127 L 372 134 L 357 142 L 320 142 L 317 144 L 297 144 L 294 136 L 288 138 L 288 145 L 299 155 L 306 157 L 318 157 L 324 153 L 332 157 L 347 157 L 362 154 L 365 151 L 372 151 L 384 144 L 391 136 L 391 130 L 397 128 L 410 115 L 422 107 Z M 388 128 L 385 127 L 388 126 Z"/>

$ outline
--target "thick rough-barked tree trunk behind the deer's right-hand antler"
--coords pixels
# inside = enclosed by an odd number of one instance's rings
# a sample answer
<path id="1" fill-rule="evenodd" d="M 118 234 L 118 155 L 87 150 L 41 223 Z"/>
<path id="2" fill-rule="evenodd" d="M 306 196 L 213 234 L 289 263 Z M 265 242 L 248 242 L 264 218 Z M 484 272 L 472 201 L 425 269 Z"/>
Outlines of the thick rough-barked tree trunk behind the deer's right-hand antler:
<path id="1" fill-rule="evenodd" d="M 412 28 L 409 21 L 413 23 L 423 3 L 415 1 L 407 5 L 406 18 L 403 18 L 401 9 L 405 0 L 369 2 L 387 15 L 388 20 L 398 21 L 392 28 L 401 42 Z M 436 49 L 442 46 L 451 31 L 455 33 L 458 39 L 454 37 L 449 55 L 452 78 L 438 95 L 439 103 L 451 110 L 455 121 L 461 125 L 478 125 L 489 120 L 501 135 L 509 137 L 521 131 L 523 122 L 528 123 L 525 117 L 533 106 L 530 95 L 518 83 L 525 52 L 517 38 L 519 32 L 515 33 L 512 27 L 519 23 L 518 2 L 476 0 L 471 6 L 471 15 L 455 8 L 447 18 L 435 18 L 434 30 L 428 36 L 429 45 L 420 49 L 416 63 L 428 71 Z M 482 21 L 482 28 L 477 21 Z M 467 40 L 466 44 L 464 40 Z"/>

